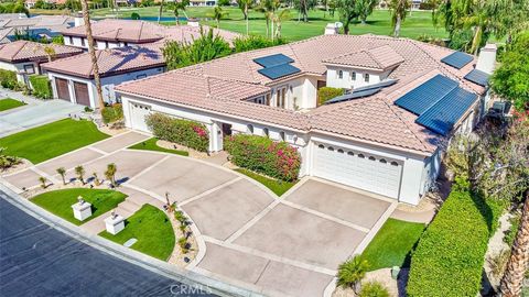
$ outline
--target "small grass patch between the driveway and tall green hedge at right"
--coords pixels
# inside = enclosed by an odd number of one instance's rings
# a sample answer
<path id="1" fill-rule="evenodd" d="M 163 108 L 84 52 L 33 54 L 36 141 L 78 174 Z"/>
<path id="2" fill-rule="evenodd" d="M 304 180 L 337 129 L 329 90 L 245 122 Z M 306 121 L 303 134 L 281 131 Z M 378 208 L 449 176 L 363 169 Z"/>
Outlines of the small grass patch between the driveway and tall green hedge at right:
<path id="1" fill-rule="evenodd" d="M 361 254 L 369 262 L 369 271 L 409 265 L 409 253 L 424 228 L 423 223 L 388 219 Z"/>

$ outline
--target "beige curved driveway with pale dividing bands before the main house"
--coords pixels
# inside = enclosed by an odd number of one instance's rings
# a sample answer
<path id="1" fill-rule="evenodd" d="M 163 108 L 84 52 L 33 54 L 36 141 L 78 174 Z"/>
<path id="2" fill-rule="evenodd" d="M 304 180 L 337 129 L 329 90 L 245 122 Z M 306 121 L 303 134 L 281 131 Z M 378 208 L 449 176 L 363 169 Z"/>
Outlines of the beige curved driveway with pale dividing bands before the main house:
<path id="1" fill-rule="evenodd" d="M 39 175 L 56 180 L 58 166 L 84 164 L 87 173 L 102 173 L 114 162 L 123 188 L 161 201 L 168 195 L 191 218 L 201 251 L 190 270 L 270 296 L 322 296 L 334 288 L 337 266 L 366 248 L 396 207 L 393 200 L 314 178 L 278 198 L 253 179 L 205 161 L 125 148 L 147 138 L 129 132 L 4 179 L 30 188 L 39 185 Z"/>

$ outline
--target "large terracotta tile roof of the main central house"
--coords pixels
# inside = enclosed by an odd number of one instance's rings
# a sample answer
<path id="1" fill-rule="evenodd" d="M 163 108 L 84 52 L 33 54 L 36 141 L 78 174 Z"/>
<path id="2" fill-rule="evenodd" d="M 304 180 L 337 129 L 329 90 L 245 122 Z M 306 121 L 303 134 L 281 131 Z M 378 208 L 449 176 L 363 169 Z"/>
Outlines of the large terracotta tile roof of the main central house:
<path id="1" fill-rule="evenodd" d="M 370 57 L 373 62 L 368 63 L 375 63 L 369 64 L 370 66 L 395 67 L 389 78 L 398 79 L 398 82 L 374 96 L 322 106 L 309 112 L 240 102 L 245 96 L 234 96 L 238 94 L 234 91 L 237 90 L 235 86 L 245 84 L 248 88 L 268 87 L 277 81 L 260 75 L 257 70 L 261 66 L 252 59 L 279 53 L 294 59 L 292 65 L 301 69 L 301 73 L 290 77 L 323 76 L 326 72 L 323 62 L 333 61 L 333 57 L 342 63 L 359 65 L 364 62 L 349 57 L 349 54 L 360 53 L 363 56 Z M 458 81 L 469 91 L 484 94 L 483 87 L 463 79 L 473 69 L 476 58 L 462 69 L 455 69 L 441 63 L 441 59 L 451 53 L 453 53 L 452 50 L 408 38 L 371 34 L 322 35 L 287 45 L 235 54 L 142 80 L 126 82 L 118 86 L 117 90 L 212 111 L 224 108 L 226 111 L 220 112 L 241 118 L 298 130 L 332 133 L 342 138 L 428 155 L 435 151 L 441 136 L 415 123 L 417 116 L 395 106 L 393 101 L 435 74 L 442 74 Z M 222 105 L 217 96 L 186 91 L 192 84 L 205 77 L 226 81 L 216 90 L 218 97 L 224 96 Z M 283 81 L 284 77 L 279 80 Z M 226 89 L 222 91 L 220 88 Z"/>

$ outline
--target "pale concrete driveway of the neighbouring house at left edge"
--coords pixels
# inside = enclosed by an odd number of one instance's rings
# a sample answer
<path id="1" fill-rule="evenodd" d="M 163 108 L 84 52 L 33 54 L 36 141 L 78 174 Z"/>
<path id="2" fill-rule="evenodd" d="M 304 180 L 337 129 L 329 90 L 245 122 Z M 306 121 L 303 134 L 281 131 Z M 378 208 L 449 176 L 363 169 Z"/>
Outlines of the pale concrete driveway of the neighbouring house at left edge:
<path id="1" fill-rule="evenodd" d="M 84 107 L 65 100 L 37 100 L 20 92 L 0 88 L 0 98 L 7 97 L 22 100 L 28 105 L 0 112 L 0 138 L 65 119 L 69 113 L 77 113 L 84 110 Z"/>

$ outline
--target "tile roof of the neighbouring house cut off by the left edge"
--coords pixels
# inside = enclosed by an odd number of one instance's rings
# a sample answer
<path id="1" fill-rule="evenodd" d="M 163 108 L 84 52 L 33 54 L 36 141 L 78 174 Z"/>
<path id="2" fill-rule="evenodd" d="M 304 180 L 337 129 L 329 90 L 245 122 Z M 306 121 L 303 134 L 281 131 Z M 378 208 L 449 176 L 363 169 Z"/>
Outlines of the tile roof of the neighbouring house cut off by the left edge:
<path id="1" fill-rule="evenodd" d="M 45 47 L 52 47 L 54 58 L 67 57 L 83 53 L 83 50 L 58 44 L 42 44 L 30 41 L 15 41 L 0 45 L 0 61 L 9 63 L 21 63 L 28 61 L 47 61 Z"/>

